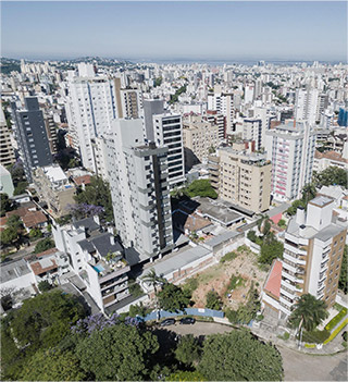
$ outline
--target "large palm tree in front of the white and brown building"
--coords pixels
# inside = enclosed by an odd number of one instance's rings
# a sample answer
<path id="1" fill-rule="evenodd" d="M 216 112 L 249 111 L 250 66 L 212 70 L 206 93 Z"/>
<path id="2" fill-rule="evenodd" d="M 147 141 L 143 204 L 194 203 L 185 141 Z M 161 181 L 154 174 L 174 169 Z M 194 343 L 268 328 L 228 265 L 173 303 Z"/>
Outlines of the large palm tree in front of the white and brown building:
<path id="1" fill-rule="evenodd" d="M 316 299 L 311 294 L 302 295 L 294 306 L 295 310 L 289 317 L 293 328 L 303 326 L 306 331 L 313 331 L 323 320 L 328 317 L 326 304 Z"/>

